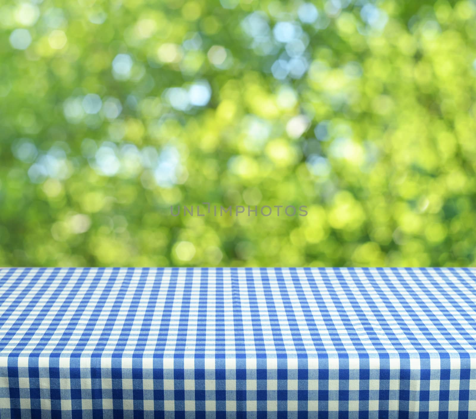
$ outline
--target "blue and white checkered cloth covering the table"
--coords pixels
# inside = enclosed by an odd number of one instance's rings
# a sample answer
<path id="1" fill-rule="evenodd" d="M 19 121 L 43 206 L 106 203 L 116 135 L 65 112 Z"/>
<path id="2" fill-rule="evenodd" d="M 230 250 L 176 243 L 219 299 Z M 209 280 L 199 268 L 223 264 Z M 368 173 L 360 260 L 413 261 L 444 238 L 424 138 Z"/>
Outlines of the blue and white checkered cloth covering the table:
<path id="1" fill-rule="evenodd" d="M 476 273 L 0 269 L 0 418 L 476 418 Z"/>

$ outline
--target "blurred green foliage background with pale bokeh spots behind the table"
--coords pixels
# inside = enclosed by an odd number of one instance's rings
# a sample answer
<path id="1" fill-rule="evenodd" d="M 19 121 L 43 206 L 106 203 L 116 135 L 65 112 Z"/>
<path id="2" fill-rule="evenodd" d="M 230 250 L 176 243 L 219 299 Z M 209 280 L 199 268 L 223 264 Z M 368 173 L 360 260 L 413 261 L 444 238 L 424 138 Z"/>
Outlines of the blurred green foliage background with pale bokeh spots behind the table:
<path id="1" fill-rule="evenodd" d="M 476 2 L 3 0 L 0 265 L 476 265 Z M 171 217 L 170 205 L 307 205 Z"/>

